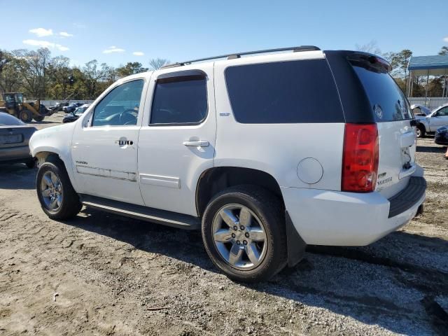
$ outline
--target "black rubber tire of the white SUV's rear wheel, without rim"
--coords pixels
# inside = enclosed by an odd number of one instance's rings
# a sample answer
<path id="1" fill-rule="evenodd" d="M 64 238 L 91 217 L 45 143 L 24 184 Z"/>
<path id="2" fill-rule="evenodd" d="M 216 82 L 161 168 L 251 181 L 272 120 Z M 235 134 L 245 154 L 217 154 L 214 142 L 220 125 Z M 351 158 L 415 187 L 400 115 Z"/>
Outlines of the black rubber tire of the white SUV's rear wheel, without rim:
<path id="1" fill-rule="evenodd" d="M 260 264 L 253 269 L 238 269 L 221 256 L 213 238 L 213 221 L 226 204 L 241 204 L 258 216 L 265 229 L 267 250 Z M 202 218 L 202 239 L 207 254 L 216 267 L 230 279 L 241 282 L 267 281 L 287 263 L 285 216 L 281 200 L 258 186 L 235 186 L 214 196 Z"/>

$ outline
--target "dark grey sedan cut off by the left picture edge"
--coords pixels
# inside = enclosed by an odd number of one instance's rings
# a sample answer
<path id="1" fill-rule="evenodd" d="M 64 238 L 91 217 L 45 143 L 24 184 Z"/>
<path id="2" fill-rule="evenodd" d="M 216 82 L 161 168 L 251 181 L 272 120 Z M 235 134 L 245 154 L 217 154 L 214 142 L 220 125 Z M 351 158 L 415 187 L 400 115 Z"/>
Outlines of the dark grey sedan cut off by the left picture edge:
<path id="1" fill-rule="evenodd" d="M 35 160 L 29 153 L 28 141 L 34 132 L 35 127 L 0 112 L 0 164 L 23 162 L 33 168 Z"/>

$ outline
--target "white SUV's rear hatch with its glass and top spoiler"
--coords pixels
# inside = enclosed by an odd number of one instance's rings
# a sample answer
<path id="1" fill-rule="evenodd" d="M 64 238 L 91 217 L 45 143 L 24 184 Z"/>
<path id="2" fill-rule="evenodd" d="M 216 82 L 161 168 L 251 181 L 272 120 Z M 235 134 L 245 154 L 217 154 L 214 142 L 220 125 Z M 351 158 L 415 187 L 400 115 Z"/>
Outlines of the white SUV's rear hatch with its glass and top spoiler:
<path id="1" fill-rule="evenodd" d="M 348 58 L 377 123 L 379 165 L 375 190 L 390 198 L 407 186 L 416 169 L 416 135 L 411 126 L 414 117 L 405 95 L 388 74 L 389 65 L 384 59 L 359 53 Z"/>

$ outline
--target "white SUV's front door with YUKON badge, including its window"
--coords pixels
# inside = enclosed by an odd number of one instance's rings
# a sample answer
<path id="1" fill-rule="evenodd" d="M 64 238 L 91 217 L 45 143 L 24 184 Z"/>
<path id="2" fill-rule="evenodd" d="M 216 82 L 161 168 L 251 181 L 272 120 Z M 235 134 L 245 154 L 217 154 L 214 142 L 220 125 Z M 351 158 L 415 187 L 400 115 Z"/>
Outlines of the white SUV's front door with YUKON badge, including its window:
<path id="1" fill-rule="evenodd" d="M 141 78 L 116 85 L 76 123 L 71 156 L 79 193 L 143 204 L 137 141 L 144 84 Z"/>

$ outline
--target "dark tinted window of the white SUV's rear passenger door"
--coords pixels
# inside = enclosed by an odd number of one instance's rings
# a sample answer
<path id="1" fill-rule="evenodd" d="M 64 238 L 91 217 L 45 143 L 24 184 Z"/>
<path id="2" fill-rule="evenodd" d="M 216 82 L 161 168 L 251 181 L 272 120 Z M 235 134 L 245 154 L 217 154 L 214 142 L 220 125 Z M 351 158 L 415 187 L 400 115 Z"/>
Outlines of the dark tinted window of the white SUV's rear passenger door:
<path id="1" fill-rule="evenodd" d="M 195 124 L 207 116 L 205 76 L 159 79 L 155 85 L 151 124 Z"/>

